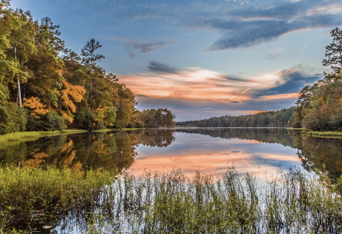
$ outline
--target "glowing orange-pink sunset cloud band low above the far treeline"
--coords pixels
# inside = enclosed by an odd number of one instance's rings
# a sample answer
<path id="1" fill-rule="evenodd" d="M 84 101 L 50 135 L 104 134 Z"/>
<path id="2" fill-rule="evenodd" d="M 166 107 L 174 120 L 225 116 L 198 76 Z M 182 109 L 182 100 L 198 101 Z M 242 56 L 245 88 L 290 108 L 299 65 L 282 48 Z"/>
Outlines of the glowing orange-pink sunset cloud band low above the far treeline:
<path id="1" fill-rule="evenodd" d="M 305 74 L 310 71 L 301 66 L 247 78 L 200 67 L 178 70 L 154 61 L 147 68 L 152 73 L 123 75 L 120 81 L 137 95 L 244 103 L 261 96 L 264 100 L 266 96 L 268 99 L 294 98 L 293 93 L 298 93 L 305 83 L 319 79 L 319 75 Z"/>

